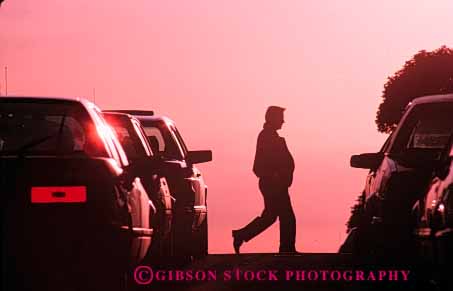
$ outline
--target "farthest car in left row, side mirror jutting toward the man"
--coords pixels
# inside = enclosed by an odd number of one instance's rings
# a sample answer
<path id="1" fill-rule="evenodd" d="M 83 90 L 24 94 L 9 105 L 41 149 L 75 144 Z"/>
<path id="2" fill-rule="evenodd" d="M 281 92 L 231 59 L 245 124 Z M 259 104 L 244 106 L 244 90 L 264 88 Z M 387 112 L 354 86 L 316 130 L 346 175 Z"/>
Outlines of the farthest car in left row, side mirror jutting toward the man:
<path id="1" fill-rule="evenodd" d="M 152 111 L 115 110 L 134 115 L 145 129 L 154 153 L 164 161 L 170 191 L 175 197 L 174 254 L 202 257 L 208 253 L 208 187 L 197 163 L 212 160 L 211 151 L 188 150 L 173 120 Z"/>

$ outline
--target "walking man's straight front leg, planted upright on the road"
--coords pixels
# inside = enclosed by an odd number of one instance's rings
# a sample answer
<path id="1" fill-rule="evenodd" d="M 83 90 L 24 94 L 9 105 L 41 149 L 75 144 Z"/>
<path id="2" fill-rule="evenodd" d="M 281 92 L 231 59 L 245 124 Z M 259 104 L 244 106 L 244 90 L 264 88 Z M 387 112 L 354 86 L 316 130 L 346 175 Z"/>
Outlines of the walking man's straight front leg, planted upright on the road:
<path id="1" fill-rule="evenodd" d="M 296 251 L 296 217 L 294 215 L 288 189 L 281 193 L 279 204 L 280 252 Z"/>

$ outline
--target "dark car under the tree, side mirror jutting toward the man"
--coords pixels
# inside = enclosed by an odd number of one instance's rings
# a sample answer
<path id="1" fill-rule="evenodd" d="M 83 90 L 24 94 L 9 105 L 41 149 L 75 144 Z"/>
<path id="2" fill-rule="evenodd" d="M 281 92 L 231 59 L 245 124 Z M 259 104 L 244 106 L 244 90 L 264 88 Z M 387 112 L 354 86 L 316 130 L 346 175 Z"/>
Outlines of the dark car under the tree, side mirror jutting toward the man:
<path id="1" fill-rule="evenodd" d="M 340 252 L 413 254 L 414 203 L 426 192 L 453 129 L 453 94 L 416 98 L 377 153 L 354 155 L 351 166 L 369 169 L 358 218 Z M 402 248 L 401 246 L 405 246 Z"/>

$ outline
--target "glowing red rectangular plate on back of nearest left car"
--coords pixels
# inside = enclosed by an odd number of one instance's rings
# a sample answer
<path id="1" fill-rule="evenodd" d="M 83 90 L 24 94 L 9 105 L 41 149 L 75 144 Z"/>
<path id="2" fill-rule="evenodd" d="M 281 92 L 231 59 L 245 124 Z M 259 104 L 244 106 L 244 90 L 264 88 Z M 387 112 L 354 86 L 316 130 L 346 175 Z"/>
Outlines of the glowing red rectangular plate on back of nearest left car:
<path id="1" fill-rule="evenodd" d="M 32 187 L 31 203 L 84 203 L 85 186 Z"/>

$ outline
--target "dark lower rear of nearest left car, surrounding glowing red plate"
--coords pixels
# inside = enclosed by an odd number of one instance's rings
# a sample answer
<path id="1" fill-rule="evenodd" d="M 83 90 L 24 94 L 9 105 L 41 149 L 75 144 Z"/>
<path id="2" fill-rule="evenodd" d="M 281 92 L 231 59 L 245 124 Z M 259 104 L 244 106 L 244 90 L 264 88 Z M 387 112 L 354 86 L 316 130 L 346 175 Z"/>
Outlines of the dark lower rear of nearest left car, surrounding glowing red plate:
<path id="1" fill-rule="evenodd" d="M 6 279 L 69 282 L 127 263 L 126 204 L 109 159 L 1 157 L 0 173 Z"/>

